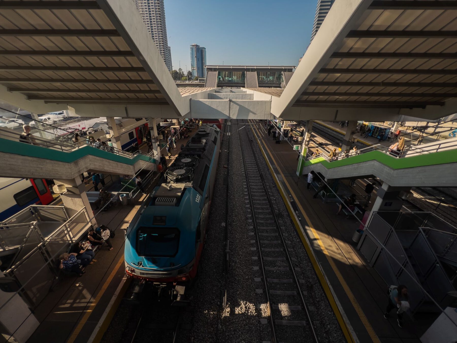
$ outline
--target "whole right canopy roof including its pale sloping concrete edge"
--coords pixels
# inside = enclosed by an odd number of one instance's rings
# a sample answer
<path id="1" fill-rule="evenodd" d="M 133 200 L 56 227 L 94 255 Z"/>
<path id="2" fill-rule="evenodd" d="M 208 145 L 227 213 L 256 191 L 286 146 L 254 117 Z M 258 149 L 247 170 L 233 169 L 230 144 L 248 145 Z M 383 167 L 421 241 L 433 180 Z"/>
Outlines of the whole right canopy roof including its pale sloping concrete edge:
<path id="1" fill-rule="evenodd" d="M 421 109 L 440 118 L 457 94 L 456 17 L 457 1 L 335 1 L 273 114 Z"/>

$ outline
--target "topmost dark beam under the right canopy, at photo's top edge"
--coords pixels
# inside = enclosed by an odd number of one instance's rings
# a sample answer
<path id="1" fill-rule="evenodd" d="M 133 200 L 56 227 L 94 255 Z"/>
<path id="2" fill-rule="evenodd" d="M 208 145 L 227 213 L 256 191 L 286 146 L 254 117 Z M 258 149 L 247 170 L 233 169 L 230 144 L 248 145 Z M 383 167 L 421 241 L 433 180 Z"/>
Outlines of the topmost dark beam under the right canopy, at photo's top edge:
<path id="1" fill-rule="evenodd" d="M 369 10 L 455 10 L 454 0 L 374 0 Z"/>

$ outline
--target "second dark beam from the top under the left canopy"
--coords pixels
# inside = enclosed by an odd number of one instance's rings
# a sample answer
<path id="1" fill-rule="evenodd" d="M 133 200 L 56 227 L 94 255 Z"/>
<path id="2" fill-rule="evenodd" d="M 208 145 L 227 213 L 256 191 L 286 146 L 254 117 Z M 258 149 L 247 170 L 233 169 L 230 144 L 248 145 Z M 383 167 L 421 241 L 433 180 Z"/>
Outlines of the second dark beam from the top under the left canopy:
<path id="1" fill-rule="evenodd" d="M 22 6 L 21 6 L 22 7 Z M 3 7 L 0 5 L 0 9 Z M 22 29 L 1 29 L 0 36 L 33 36 L 33 37 L 120 37 L 117 30 L 22 30 Z"/>

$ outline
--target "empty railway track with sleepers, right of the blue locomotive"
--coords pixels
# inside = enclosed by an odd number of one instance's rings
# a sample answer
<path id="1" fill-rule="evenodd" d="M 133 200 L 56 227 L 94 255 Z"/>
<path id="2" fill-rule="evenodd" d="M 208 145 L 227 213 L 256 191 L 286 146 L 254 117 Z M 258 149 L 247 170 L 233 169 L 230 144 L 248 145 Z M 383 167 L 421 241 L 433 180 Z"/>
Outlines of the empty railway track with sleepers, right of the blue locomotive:
<path id="1" fill-rule="evenodd" d="M 270 326 L 271 341 L 279 342 L 318 342 L 313 321 L 303 296 L 299 280 L 295 273 L 295 259 L 290 257 L 282 223 L 275 214 L 271 201 L 271 192 L 262 176 L 253 143 L 249 136 L 249 127 L 240 129 L 238 134 L 241 146 L 242 162 L 246 178 L 245 203 L 252 213 L 253 248 L 258 257 L 261 277 L 255 281 L 259 288 L 256 292 L 264 295 L 266 304 L 260 305 L 260 311 L 266 316 Z M 255 244 L 255 247 L 254 247 Z M 265 318 L 264 318 L 265 320 Z"/>

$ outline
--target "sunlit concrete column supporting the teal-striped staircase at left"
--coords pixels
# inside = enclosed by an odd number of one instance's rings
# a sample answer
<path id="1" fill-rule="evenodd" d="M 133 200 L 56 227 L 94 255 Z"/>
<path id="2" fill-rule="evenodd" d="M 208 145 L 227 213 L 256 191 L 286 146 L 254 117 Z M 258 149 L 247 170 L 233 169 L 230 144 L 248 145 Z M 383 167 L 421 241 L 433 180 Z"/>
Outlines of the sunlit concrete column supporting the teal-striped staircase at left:
<path id="1" fill-rule="evenodd" d="M 85 207 L 89 218 L 93 216 L 92 208 L 90 207 L 89 199 L 85 193 L 85 184 L 81 182 L 80 177 L 69 180 L 54 180 L 55 184 L 63 184 L 67 188 L 67 192 L 60 195 L 69 216 L 73 216 L 80 209 Z M 101 184 L 99 184 L 101 187 Z M 91 220 L 92 225 L 97 226 L 95 218 Z"/>

